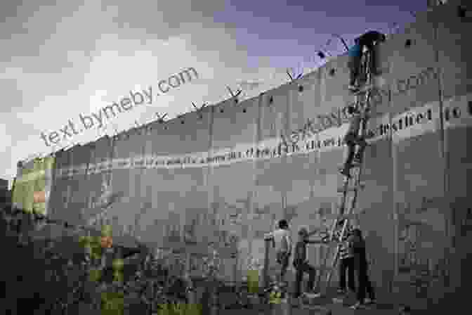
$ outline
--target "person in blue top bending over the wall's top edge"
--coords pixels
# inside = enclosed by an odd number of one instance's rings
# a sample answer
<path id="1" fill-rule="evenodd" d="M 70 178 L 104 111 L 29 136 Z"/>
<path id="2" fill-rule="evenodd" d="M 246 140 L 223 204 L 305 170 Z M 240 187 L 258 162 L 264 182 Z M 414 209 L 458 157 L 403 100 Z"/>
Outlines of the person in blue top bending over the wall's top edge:
<path id="1" fill-rule="evenodd" d="M 385 41 L 386 36 L 377 31 L 369 31 L 365 34 L 362 34 L 360 37 L 354 39 L 354 46 L 352 46 L 348 51 L 349 56 L 349 68 L 350 68 L 350 82 L 349 82 L 349 89 L 350 90 L 357 90 L 358 85 L 356 85 L 356 80 L 360 74 L 360 61 L 362 58 L 362 51 L 364 51 L 364 47 L 371 53 L 370 54 L 370 65 L 372 65 L 372 73 L 374 75 L 377 74 L 376 72 L 376 56 L 374 53 L 374 46 L 376 43 L 381 41 Z"/>

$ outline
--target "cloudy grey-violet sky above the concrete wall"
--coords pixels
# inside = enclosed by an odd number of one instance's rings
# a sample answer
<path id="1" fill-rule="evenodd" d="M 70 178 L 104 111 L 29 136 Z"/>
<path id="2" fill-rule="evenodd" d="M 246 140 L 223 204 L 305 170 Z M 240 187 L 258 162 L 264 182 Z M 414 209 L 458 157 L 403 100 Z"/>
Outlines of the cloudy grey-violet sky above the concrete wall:
<path id="1" fill-rule="evenodd" d="M 183 68 L 199 73 L 152 105 L 117 115 L 119 131 L 156 112 L 188 112 L 192 101 L 223 101 L 226 85 L 259 82 L 242 86 L 243 98 L 254 96 L 287 82 L 286 68 L 317 68 L 315 52 L 332 34 L 352 44 L 366 30 L 388 33 L 425 9 L 426 0 L 0 1 L 0 178 L 11 181 L 18 160 L 51 152 L 41 131 L 59 131 L 130 89 L 157 88 Z M 334 39 L 327 49 L 339 54 L 343 46 Z M 91 129 L 70 140 L 96 138 Z"/>

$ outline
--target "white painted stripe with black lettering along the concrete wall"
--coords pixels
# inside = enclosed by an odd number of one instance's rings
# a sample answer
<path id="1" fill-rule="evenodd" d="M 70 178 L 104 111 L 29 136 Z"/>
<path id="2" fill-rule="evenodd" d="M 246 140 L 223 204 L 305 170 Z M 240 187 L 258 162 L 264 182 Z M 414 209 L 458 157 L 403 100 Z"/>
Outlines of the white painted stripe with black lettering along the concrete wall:
<path id="1" fill-rule="evenodd" d="M 454 128 L 472 125 L 472 94 L 458 99 L 445 101 L 445 127 Z M 400 141 L 440 129 L 438 102 L 427 103 L 393 117 L 389 122 L 388 115 L 369 120 L 369 142 L 386 139 L 391 135 L 392 141 Z M 213 152 L 189 153 L 187 155 L 136 155 L 129 158 L 115 158 L 98 163 L 89 163 L 55 169 L 56 177 L 74 175 L 100 174 L 112 169 L 171 169 L 185 167 L 207 167 L 229 165 L 248 160 L 264 160 L 287 155 L 327 151 L 343 147 L 343 135 L 348 124 L 332 127 L 316 134 L 306 134 L 290 145 L 273 138 L 261 143 L 241 143 L 234 148 L 214 150 Z M 29 174 L 28 179 L 33 179 Z"/>

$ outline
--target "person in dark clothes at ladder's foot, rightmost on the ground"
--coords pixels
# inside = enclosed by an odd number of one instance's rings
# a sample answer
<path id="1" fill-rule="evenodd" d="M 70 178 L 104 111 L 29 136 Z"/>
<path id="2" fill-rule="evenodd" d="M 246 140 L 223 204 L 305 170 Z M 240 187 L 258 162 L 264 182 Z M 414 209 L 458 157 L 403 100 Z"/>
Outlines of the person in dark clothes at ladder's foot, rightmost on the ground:
<path id="1" fill-rule="evenodd" d="M 362 232 L 360 229 L 353 230 L 353 254 L 354 254 L 354 266 L 358 276 L 358 291 L 357 300 L 351 309 L 360 309 L 365 304 L 372 304 L 375 302 L 374 288 L 372 283 L 369 281 L 368 266 L 367 266 L 367 255 L 365 252 L 365 240 L 362 238 Z M 365 299 L 365 293 L 369 295 L 368 299 Z"/>

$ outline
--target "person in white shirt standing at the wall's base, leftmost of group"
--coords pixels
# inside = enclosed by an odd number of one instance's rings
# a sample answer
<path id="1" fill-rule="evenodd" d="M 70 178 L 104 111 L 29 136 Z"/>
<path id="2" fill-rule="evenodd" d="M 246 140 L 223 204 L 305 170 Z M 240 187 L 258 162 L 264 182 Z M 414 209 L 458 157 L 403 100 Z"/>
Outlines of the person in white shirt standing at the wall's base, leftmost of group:
<path id="1" fill-rule="evenodd" d="M 291 255 L 291 236 L 287 220 L 280 220 L 278 226 L 279 228 L 273 231 L 273 248 L 275 248 L 277 255 L 277 263 L 280 264 L 280 274 L 277 281 L 283 282 Z"/>

